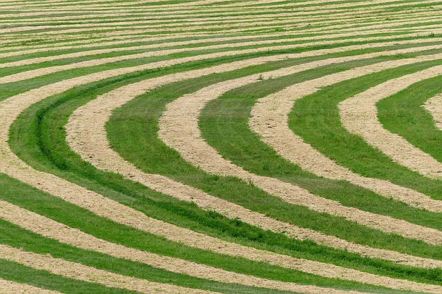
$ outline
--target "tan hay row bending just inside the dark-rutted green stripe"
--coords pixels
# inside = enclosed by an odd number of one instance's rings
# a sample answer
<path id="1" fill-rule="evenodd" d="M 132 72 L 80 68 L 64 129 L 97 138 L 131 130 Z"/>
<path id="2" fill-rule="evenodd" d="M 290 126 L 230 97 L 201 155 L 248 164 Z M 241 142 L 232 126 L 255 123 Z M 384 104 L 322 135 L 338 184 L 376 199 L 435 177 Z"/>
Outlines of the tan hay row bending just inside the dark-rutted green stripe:
<path id="1" fill-rule="evenodd" d="M 393 55 L 398 52 L 410 52 L 410 49 L 398 50 L 397 52 L 394 51 L 390 54 Z M 374 55 L 367 55 L 366 57 L 368 58 L 376 55 L 385 55 L 385 53 L 376 53 Z M 295 56 L 300 57 L 302 55 Z M 361 56 L 354 58 L 359 59 Z M 266 59 L 261 58 L 256 59 L 256 61 L 257 63 L 262 63 L 266 61 Z M 338 61 L 339 59 L 334 62 Z M 227 65 L 227 69 L 233 70 L 238 68 L 238 66 L 244 67 L 247 66 L 247 64 L 243 64 L 243 61 L 240 61 L 239 63 L 230 63 Z M 283 71 L 287 72 L 286 69 Z M 184 72 L 183 74 L 170 75 L 167 77 L 159 77 L 124 86 L 122 88 L 117 88 L 116 90 L 108 92 L 105 95 L 100 95 L 97 97 L 97 99 L 90 101 L 88 104 L 75 110 L 73 115 L 70 117 L 69 123 L 66 125 L 66 139 L 70 145 L 70 148 L 78 153 L 82 159 L 90 162 L 97 168 L 119 173 L 128 179 L 140 182 L 141 184 L 144 184 L 153 190 L 157 190 L 160 193 L 171 195 L 184 201 L 195 202 L 195 204 L 197 204 L 200 208 L 215 210 L 218 213 L 231 218 L 238 217 L 243 222 L 247 222 L 253 226 L 268 229 L 276 233 L 280 233 L 282 230 L 284 230 L 286 231 L 285 235 L 287 235 L 287 237 L 311 239 L 314 242 L 323 244 L 325 246 L 343 248 L 361 255 L 388 259 L 393 262 L 405 262 L 405 264 L 413 266 L 432 267 L 436 265 L 434 264 L 434 261 L 430 262 L 429 259 L 423 260 L 419 257 L 401 255 L 401 253 L 396 253 L 394 251 L 375 249 L 370 248 L 369 246 L 353 244 L 343 239 L 338 239 L 334 236 L 327 236 L 309 229 L 298 228 L 284 222 L 277 222 L 276 220 L 265 217 L 260 213 L 254 213 L 250 210 L 242 208 L 242 206 L 212 197 L 211 195 L 203 193 L 201 190 L 177 183 L 167 177 L 143 173 L 142 170 L 139 170 L 132 164 L 129 164 L 108 146 L 104 125 L 111 117 L 115 108 L 126 104 L 131 99 L 141 95 L 149 89 L 166 83 L 171 83 L 173 81 L 198 77 L 202 74 L 204 74 L 204 70 Z M 401 257 L 399 257 L 399 255 L 401 255 Z M 441 265 L 439 262 L 437 262 L 437 264 L 437 266 Z"/>

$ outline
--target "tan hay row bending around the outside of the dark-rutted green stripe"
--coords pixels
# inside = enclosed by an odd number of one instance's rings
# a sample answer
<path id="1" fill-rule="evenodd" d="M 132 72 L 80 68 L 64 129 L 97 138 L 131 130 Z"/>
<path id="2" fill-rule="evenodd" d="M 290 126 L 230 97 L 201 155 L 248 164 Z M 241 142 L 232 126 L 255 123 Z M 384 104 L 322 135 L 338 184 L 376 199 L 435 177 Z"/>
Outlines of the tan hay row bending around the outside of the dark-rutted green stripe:
<path id="1" fill-rule="evenodd" d="M 103 78 L 102 73 L 99 75 L 99 78 Z M 87 80 L 90 82 L 90 77 L 81 77 L 82 80 Z M 80 81 L 81 79 L 74 79 L 75 81 Z M 62 83 L 63 88 L 56 88 L 57 91 L 62 92 L 66 90 L 66 86 L 72 87 L 73 84 L 66 84 L 66 81 L 63 81 Z M 50 85 L 46 87 L 48 90 L 48 93 L 55 94 L 55 85 Z M 44 99 L 46 97 L 44 90 L 37 89 L 38 91 L 32 91 L 32 95 L 19 95 L 22 99 L 19 99 L 18 97 L 11 97 L 10 99 L 7 99 L 6 101 L 2 102 L 2 108 L 3 110 L 3 121 L 2 125 L 5 126 L 4 129 L 8 129 L 7 122 L 6 121 L 13 121 L 14 117 L 12 115 L 18 114 L 21 112 L 21 109 L 26 108 L 26 104 L 24 99 L 29 99 L 30 101 L 28 103 L 35 102 L 36 99 Z M 38 94 L 38 95 L 37 95 Z M 40 97 L 39 97 L 40 95 Z M 25 98 L 26 97 L 26 98 Z M 24 99 L 23 99 L 24 98 Z M 13 109 L 15 108 L 15 111 Z M 6 133 L 5 133 L 6 135 Z M 6 145 L 6 141 L 4 141 L 3 146 Z M 134 210 L 131 210 L 130 208 L 125 208 L 125 206 L 119 206 L 118 204 L 113 203 L 111 200 L 106 199 L 104 197 L 101 197 L 100 195 L 96 195 L 95 193 L 92 193 L 91 191 L 84 190 L 78 186 L 75 186 L 74 184 L 63 182 L 61 179 L 58 179 L 57 177 L 53 177 L 52 175 L 44 174 L 41 172 L 37 172 L 36 170 L 32 170 L 28 166 L 25 166 L 23 162 L 16 159 L 10 151 L 8 151 L 8 148 L 5 146 L 3 147 L 3 164 L 2 166 L 6 166 L 5 169 L 3 169 L 3 173 L 7 173 L 8 175 L 12 177 L 16 177 L 17 179 L 20 179 L 22 182 L 26 182 L 32 186 L 35 186 L 36 188 L 39 188 L 41 190 L 45 190 L 48 193 L 51 193 L 52 195 L 56 195 L 58 197 L 62 197 L 63 199 L 66 199 L 68 202 L 75 203 L 79 206 L 84 206 L 88 208 L 89 210 L 93 210 L 95 213 L 99 215 L 103 215 L 104 217 L 108 217 L 111 219 L 114 219 L 117 222 L 121 222 L 124 224 L 127 224 L 128 226 L 135 226 L 137 228 L 142 229 L 143 231 L 152 232 L 155 234 L 163 235 L 164 237 L 168 237 L 169 239 L 177 240 L 178 242 L 184 242 L 185 244 L 189 244 L 191 246 L 197 246 L 199 248 L 211 248 L 213 251 L 218 251 L 220 253 L 229 254 L 229 255 L 239 255 L 244 256 L 247 258 L 254 258 L 254 259 L 260 259 L 260 255 L 264 254 L 264 257 L 266 258 L 267 262 L 269 259 L 271 260 L 270 253 L 260 253 L 257 255 L 254 251 L 246 250 L 245 248 L 238 248 L 237 250 L 233 250 L 236 246 L 233 244 L 226 244 L 225 242 L 222 242 L 220 240 L 211 239 L 210 237 L 203 237 L 202 235 L 198 235 L 195 233 L 191 233 L 191 231 L 186 231 L 178 228 L 173 228 L 173 226 L 169 226 L 169 232 L 166 231 L 166 228 L 168 227 L 165 223 L 157 222 L 154 219 L 148 219 L 146 216 L 135 213 Z M 9 155 L 7 155 L 9 153 Z M 13 163 L 14 162 L 14 163 Z M 6 164 L 5 164 L 6 163 Z M 77 193 L 75 193 L 75 190 L 77 190 Z M 124 210 L 127 210 L 126 213 L 123 213 Z M 119 211 L 117 215 L 115 215 L 115 212 Z M 181 231 L 181 232 L 180 232 Z M 180 232 L 180 233 L 178 233 Z M 185 237 L 185 239 L 184 239 Z M 205 240 L 206 243 L 204 244 L 202 241 Z M 218 248 L 218 250 L 214 247 L 217 245 L 215 244 L 222 244 L 223 246 L 221 248 Z M 232 247 L 230 249 L 229 247 Z M 239 252 L 238 252 L 239 251 Z M 254 253 L 254 254 L 253 254 Z M 253 256 L 255 255 L 255 256 Z M 266 256 L 269 255 L 269 256 Z M 262 258 L 262 257 L 261 257 Z M 278 257 L 280 259 L 280 257 Z M 278 265 L 285 265 L 290 266 L 290 268 L 293 268 L 293 264 L 288 265 L 285 264 L 285 262 L 282 262 L 281 260 L 278 262 L 278 259 L 276 261 L 273 261 L 275 264 Z M 285 257 L 287 259 L 287 257 Z M 303 264 L 305 266 L 305 264 Z M 309 267 L 307 267 L 309 268 Z M 312 269 L 317 270 L 318 266 L 311 266 Z M 334 271 L 332 271 L 334 272 Z"/>

